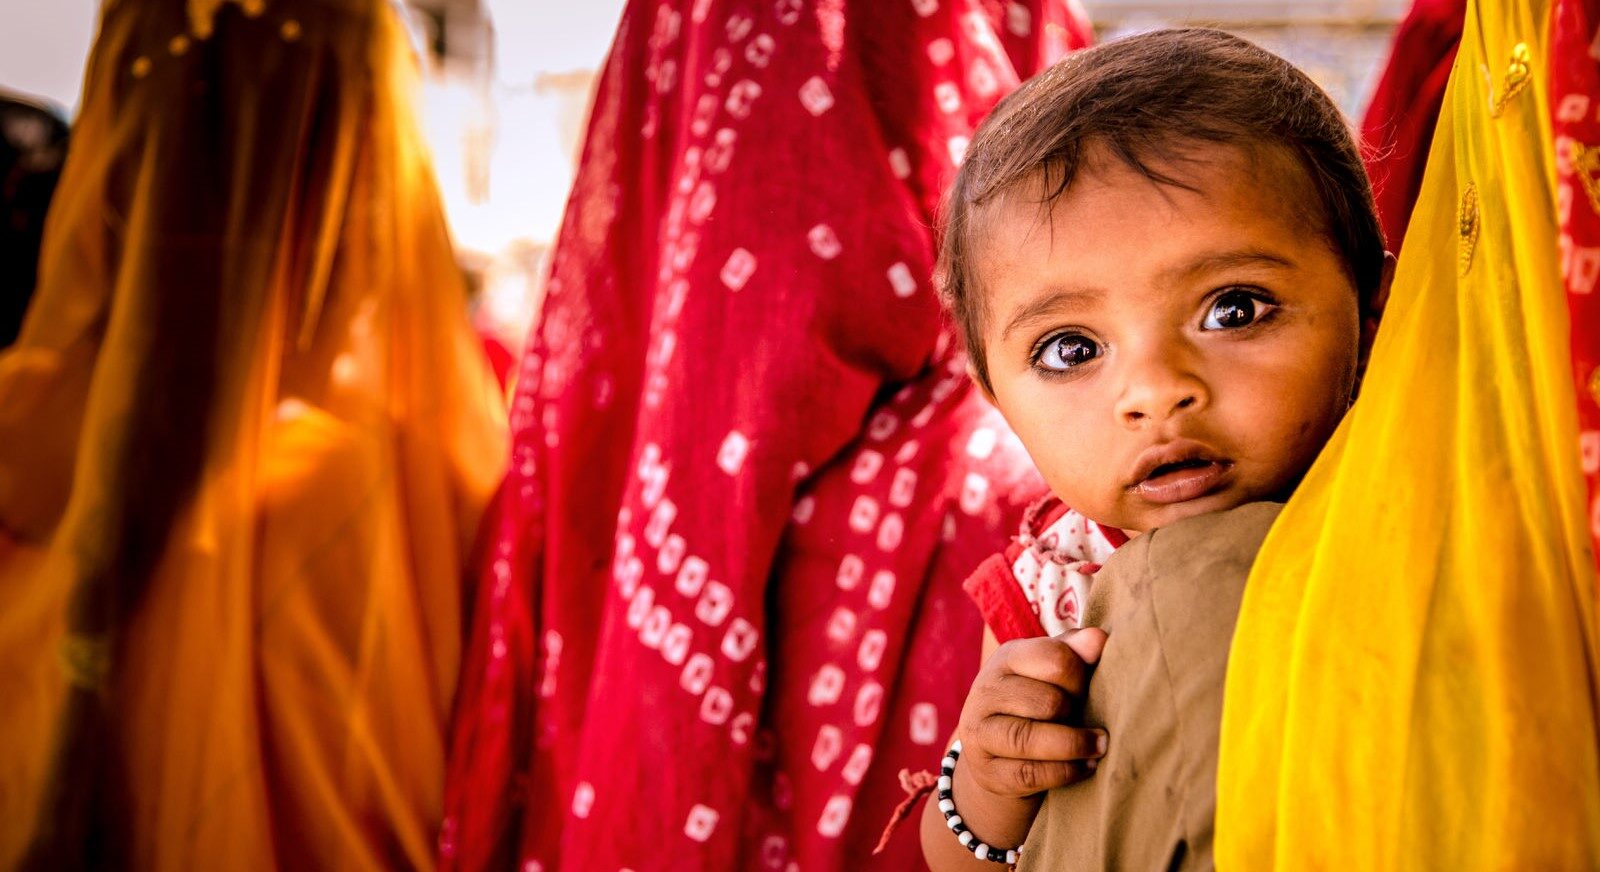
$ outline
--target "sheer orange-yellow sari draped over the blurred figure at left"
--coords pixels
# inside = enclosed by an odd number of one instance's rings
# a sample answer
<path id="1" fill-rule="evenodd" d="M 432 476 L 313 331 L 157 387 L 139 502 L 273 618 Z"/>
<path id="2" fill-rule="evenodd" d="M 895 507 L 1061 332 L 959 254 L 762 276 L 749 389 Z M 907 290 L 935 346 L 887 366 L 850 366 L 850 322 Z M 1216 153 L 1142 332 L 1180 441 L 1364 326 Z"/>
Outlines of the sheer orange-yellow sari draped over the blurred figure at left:
<path id="1" fill-rule="evenodd" d="M 430 867 L 506 458 L 384 0 L 112 0 L 0 354 L 0 869 Z"/>

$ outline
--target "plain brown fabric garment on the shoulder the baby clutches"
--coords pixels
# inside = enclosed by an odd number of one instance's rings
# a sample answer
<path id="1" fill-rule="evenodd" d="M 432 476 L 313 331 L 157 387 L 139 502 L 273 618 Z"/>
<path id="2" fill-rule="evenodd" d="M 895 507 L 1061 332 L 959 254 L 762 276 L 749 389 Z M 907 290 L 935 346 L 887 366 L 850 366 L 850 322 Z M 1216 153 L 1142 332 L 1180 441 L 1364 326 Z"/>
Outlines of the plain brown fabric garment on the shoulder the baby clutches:
<path id="1" fill-rule="evenodd" d="M 1085 626 L 1109 640 L 1083 722 L 1104 726 L 1110 746 L 1094 778 L 1045 797 L 1019 869 L 1213 869 L 1227 651 L 1278 509 L 1194 517 L 1106 562 Z"/>

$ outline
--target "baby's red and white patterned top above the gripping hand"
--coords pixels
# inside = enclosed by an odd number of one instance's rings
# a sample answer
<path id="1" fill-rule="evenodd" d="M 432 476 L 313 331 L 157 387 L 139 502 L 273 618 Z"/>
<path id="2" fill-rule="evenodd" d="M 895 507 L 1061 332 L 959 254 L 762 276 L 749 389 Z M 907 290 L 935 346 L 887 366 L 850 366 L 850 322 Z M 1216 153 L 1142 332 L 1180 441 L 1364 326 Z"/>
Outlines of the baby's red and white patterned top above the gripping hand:
<path id="1" fill-rule="evenodd" d="M 1061 635 L 1083 622 L 1094 573 L 1128 541 L 1048 498 L 1022 517 L 1011 546 L 963 582 L 1000 642 Z"/>

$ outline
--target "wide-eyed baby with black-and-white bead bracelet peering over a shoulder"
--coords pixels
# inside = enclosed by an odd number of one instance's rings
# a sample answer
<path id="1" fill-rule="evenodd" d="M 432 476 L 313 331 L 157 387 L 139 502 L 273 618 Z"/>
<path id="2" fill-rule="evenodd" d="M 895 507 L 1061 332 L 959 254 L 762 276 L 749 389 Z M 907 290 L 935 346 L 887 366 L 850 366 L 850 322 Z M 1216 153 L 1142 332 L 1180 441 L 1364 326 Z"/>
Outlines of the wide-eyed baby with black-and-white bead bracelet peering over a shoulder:
<path id="1" fill-rule="evenodd" d="M 1288 498 L 1355 397 L 1392 258 L 1333 101 L 1214 30 L 1022 85 L 966 154 L 941 256 L 973 379 L 1058 498 L 968 582 L 984 666 L 923 814 L 930 866 L 995 869 L 1106 754 L 1082 722 L 1106 634 L 1075 629 L 1099 563 Z"/>

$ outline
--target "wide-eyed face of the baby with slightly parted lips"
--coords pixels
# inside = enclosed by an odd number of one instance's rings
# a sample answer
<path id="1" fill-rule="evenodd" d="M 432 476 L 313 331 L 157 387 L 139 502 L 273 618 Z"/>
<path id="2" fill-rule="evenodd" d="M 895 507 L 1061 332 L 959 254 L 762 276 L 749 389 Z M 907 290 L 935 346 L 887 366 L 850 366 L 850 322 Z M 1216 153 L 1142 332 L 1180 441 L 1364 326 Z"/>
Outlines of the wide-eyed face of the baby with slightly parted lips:
<path id="1" fill-rule="evenodd" d="M 987 216 L 994 402 L 1051 490 L 1144 533 L 1283 498 L 1350 405 L 1355 286 L 1288 154 L 1202 146 L 1158 186 L 1088 155 Z"/>

